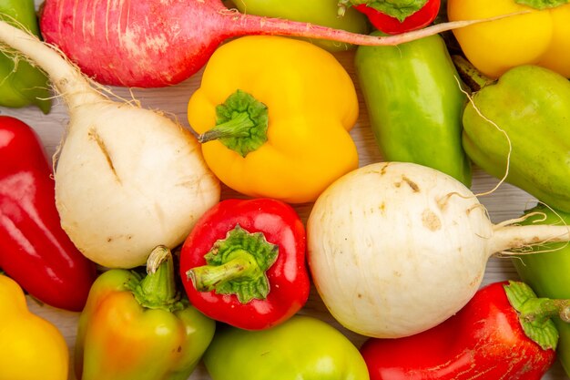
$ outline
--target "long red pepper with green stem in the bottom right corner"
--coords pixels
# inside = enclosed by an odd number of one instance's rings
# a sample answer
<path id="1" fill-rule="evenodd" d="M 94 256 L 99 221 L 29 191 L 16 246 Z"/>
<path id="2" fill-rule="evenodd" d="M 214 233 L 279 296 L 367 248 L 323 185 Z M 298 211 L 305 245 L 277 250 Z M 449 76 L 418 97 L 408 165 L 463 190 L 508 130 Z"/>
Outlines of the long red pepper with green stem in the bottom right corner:
<path id="1" fill-rule="evenodd" d="M 539 380 L 555 361 L 550 318 L 567 320 L 569 312 L 569 301 L 536 298 L 524 282 L 494 282 L 442 324 L 404 338 L 370 338 L 361 354 L 371 380 Z"/>

